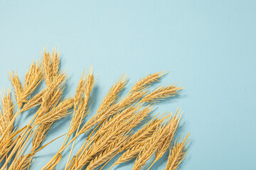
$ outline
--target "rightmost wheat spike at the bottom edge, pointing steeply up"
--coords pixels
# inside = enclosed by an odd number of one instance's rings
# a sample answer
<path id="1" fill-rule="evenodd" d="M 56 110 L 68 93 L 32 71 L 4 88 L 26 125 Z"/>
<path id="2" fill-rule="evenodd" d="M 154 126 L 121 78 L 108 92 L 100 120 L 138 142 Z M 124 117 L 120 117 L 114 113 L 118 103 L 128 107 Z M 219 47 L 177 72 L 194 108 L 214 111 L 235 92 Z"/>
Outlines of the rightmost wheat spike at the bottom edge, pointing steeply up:
<path id="1" fill-rule="evenodd" d="M 186 149 L 186 145 L 188 144 L 186 140 L 188 140 L 189 135 L 190 135 L 190 132 L 188 133 L 188 135 L 186 135 L 183 142 L 181 141 L 178 142 L 176 140 L 174 147 L 170 149 L 169 159 L 165 168 L 166 170 L 178 169 L 178 165 L 181 164 L 181 162 L 185 158 L 188 151 L 188 149 Z"/>

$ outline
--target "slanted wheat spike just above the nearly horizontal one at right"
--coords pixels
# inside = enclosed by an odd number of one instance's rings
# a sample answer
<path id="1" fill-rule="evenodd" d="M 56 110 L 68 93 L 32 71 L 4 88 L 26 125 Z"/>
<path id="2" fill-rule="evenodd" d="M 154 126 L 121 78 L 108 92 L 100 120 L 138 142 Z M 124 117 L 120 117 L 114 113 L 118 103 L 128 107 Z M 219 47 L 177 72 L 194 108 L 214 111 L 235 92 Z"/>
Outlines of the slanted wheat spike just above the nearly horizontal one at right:
<path id="1" fill-rule="evenodd" d="M 166 73 L 164 72 L 156 72 L 154 74 L 149 74 L 148 76 L 144 77 L 143 79 L 140 79 L 139 81 L 137 81 L 134 86 L 132 87 L 132 90 L 130 92 L 133 91 L 140 91 L 142 89 L 144 89 L 147 86 L 150 86 L 151 83 L 155 82 L 155 81 L 159 81 L 159 79 L 161 77 L 163 77 Z"/>

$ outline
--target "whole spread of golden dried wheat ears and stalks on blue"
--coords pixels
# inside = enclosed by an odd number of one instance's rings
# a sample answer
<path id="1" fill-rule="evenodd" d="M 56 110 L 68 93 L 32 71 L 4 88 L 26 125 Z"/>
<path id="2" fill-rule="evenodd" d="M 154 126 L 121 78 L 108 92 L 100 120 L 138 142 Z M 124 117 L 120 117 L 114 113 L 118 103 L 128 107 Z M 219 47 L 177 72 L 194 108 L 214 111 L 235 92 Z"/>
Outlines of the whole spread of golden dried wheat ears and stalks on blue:
<path id="1" fill-rule="evenodd" d="M 173 84 L 150 91 L 149 86 L 165 74 L 157 72 L 139 79 L 129 93 L 121 97 L 119 92 L 127 84 L 127 77 L 122 76 L 110 88 L 97 113 L 83 123 L 90 112 L 95 76 L 92 69 L 84 72 L 74 96 L 63 98 L 68 77 L 60 70 L 59 54 L 58 50 L 46 52 L 44 48 L 41 61 L 32 62 L 23 80 L 18 78 L 16 72 L 9 73 L 14 95 L 11 96 L 10 89 L 1 94 L 1 170 L 29 169 L 33 159 L 39 159 L 34 158 L 36 153 L 46 146 L 50 147 L 50 142 L 44 143 L 50 128 L 70 113 L 73 117 L 63 144 L 42 169 L 55 169 L 68 146 L 65 169 L 102 169 L 114 157 L 117 161 L 111 168 L 135 159 L 132 170 L 150 169 L 167 151 L 169 159 L 165 169 L 178 169 L 187 153 L 189 135 L 183 140 L 176 137 L 181 120 L 180 109 L 174 114 L 158 116 L 152 116 L 151 111 L 159 100 L 175 96 L 182 87 Z M 36 93 L 43 81 L 46 87 Z M 17 116 L 31 108 L 35 111 L 33 118 L 26 126 L 16 127 L 14 122 Z M 134 132 L 137 126 L 142 128 Z M 73 153 L 76 138 L 83 134 L 87 136 L 85 142 L 78 152 Z"/>

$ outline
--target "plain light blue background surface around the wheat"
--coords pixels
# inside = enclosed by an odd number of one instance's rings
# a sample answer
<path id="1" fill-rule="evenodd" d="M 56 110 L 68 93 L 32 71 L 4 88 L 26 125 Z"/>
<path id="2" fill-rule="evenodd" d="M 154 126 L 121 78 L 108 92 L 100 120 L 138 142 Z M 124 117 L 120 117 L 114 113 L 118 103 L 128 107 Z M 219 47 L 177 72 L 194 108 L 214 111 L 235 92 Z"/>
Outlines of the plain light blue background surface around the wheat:
<path id="1" fill-rule="evenodd" d="M 256 169 L 255 30 L 256 1 L 1 0 L 0 86 L 9 86 L 9 69 L 23 77 L 43 45 L 59 45 L 70 75 L 66 96 L 85 68 L 92 65 L 97 74 L 90 117 L 123 73 L 129 90 L 146 73 L 166 70 L 154 86 L 178 82 L 185 89 L 159 103 L 155 113 L 178 106 L 184 112 L 179 134 L 190 131 L 191 145 L 181 169 Z M 17 123 L 29 118 L 23 114 Z M 46 142 L 69 123 L 70 116 L 56 123 Z M 32 169 L 46 164 L 62 142 L 39 152 Z M 153 169 L 163 169 L 166 159 Z"/>

